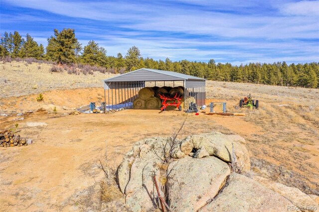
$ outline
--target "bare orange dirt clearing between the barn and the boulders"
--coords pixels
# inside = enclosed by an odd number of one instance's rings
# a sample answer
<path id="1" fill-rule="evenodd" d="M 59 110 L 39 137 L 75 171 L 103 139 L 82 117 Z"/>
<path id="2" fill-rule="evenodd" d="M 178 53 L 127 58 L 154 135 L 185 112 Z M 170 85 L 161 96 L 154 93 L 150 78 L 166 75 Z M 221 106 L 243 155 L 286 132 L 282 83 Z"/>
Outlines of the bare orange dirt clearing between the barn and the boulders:
<path id="1" fill-rule="evenodd" d="M 59 118 L 47 116 L 36 113 L 19 122 L 21 135 L 32 137 L 34 144 L 0 149 L 3 211 L 53 211 L 59 207 L 77 210 L 78 193 L 94 186 L 104 176 L 98 167 L 99 159 L 104 158 L 106 140 L 109 157 L 117 166 L 136 141 L 150 136 L 169 136 L 185 118 L 184 113 L 178 111 L 159 113 L 157 110 L 124 110 L 107 115 L 80 114 Z M 32 121 L 48 125 L 25 125 Z M 233 122 L 238 124 L 234 127 Z M 258 127 L 244 122 L 241 117 L 191 114 L 187 116 L 182 134 L 213 130 L 258 131 Z M 240 125 L 244 128 L 239 129 Z"/>

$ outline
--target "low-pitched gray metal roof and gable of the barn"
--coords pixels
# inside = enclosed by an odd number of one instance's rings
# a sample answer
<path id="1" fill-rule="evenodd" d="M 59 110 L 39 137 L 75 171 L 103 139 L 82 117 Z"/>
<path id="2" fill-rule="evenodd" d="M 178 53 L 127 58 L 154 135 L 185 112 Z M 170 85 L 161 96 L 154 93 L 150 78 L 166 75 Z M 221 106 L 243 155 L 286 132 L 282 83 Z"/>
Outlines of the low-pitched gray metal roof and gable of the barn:
<path id="1" fill-rule="evenodd" d="M 132 81 L 205 81 L 206 79 L 194 77 L 191 75 L 180 74 L 171 71 L 162 71 L 157 69 L 138 69 L 129 73 L 121 74 L 104 80 L 104 82 L 132 82 Z"/>

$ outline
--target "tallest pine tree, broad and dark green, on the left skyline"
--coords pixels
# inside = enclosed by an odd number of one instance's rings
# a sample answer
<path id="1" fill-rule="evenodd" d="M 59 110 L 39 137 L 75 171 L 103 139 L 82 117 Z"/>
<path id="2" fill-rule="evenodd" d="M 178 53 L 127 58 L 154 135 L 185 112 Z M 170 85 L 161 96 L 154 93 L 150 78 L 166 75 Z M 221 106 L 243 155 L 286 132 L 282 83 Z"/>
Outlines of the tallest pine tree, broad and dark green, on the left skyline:
<path id="1" fill-rule="evenodd" d="M 48 38 L 46 58 L 59 64 L 74 63 L 81 49 L 74 29 L 64 28 L 61 32 L 54 29 L 54 36 Z"/>

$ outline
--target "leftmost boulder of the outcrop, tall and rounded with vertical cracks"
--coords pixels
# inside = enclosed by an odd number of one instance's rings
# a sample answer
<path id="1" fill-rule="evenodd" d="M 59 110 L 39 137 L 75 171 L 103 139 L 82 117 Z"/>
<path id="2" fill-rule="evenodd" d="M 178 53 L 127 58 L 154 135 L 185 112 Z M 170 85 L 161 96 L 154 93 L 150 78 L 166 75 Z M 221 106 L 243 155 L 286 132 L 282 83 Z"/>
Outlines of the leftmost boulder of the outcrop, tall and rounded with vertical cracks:
<path id="1" fill-rule="evenodd" d="M 166 138 L 148 138 L 137 142 L 118 168 L 119 186 L 132 211 L 158 208 L 159 200 L 153 176 L 161 175 L 160 165 L 168 156 L 168 151 L 162 148 L 166 142 Z M 160 182 L 159 186 L 162 187 Z M 160 190 L 160 193 L 164 196 L 163 191 Z"/>

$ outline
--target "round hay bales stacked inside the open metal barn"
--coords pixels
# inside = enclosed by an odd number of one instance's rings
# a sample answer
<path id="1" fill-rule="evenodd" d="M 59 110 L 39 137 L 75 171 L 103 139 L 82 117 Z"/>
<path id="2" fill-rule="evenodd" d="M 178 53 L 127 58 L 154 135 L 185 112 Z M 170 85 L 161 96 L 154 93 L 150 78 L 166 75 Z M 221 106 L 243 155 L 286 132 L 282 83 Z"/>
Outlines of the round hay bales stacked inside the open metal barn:
<path id="1" fill-rule="evenodd" d="M 178 93 L 184 96 L 184 87 L 168 87 L 163 86 L 159 87 L 145 87 L 139 91 L 139 97 L 134 100 L 133 108 L 134 109 L 160 109 L 161 107 L 161 100 L 159 94 L 164 94 L 166 96 L 174 97 L 175 94 Z M 184 103 L 189 104 L 191 102 L 196 103 L 193 97 L 187 98 L 185 101 L 184 98 L 181 100 L 182 108 L 184 108 Z M 188 103 L 189 102 L 189 103 Z"/>

